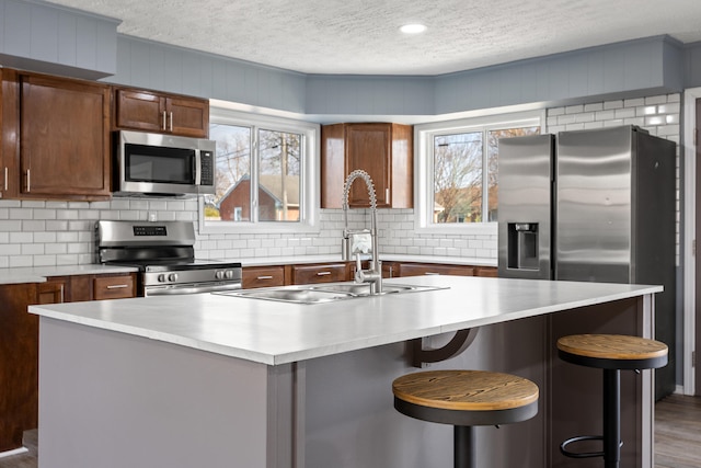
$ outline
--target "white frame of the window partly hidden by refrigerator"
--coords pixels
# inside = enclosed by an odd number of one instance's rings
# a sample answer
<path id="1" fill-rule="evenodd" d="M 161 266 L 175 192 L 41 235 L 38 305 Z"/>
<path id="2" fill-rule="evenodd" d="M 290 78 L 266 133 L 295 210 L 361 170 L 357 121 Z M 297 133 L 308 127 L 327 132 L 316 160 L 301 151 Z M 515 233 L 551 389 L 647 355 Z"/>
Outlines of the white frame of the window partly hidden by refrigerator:
<path id="1" fill-rule="evenodd" d="M 495 114 L 455 121 L 433 122 L 414 126 L 414 229 L 420 233 L 437 235 L 497 235 L 497 222 L 433 222 L 434 206 L 434 138 L 456 133 L 482 132 L 483 168 L 487 165 L 489 138 L 487 133 L 501 128 L 518 128 L 540 126 L 541 134 L 545 132 L 545 110 L 524 111 L 506 114 Z M 482 187 L 486 193 L 489 172 L 482 172 Z M 486 213 L 487 201 L 483 201 L 483 213 Z M 497 215 L 498 216 L 498 215 Z"/>

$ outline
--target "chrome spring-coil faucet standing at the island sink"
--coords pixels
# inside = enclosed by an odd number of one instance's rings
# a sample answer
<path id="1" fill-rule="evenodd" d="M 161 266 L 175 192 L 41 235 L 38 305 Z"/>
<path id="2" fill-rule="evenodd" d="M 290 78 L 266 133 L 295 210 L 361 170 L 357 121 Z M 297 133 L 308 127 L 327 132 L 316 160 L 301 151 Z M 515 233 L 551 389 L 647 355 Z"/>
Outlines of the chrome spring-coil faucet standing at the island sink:
<path id="1" fill-rule="evenodd" d="M 370 196 L 370 216 L 371 224 L 370 230 L 350 230 L 348 229 L 348 193 L 350 192 L 350 185 L 356 179 L 363 179 L 368 187 L 368 195 Z M 355 256 L 355 282 L 356 283 L 369 283 L 370 294 L 382 293 L 382 263 L 379 260 L 379 250 L 377 247 L 377 195 L 375 193 L 375 184 L 370 174 L 361 169 L 357 169 L 348 174 L 346 182 L 343 186 L 343 217 L 345 227 L 343 229 L 343 259 L 352 261 Z M 368 242 L 369 240 L 369 242 Z M 370 254 L 370 267 L 363 270 L 360 254 Z"/>

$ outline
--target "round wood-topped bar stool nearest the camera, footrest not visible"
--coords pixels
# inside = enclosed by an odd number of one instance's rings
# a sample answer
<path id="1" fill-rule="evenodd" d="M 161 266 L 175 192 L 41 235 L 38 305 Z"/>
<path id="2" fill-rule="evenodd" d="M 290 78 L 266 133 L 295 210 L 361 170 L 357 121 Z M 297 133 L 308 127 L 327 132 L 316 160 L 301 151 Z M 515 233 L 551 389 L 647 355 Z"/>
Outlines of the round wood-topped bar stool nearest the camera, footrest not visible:
<path id="1" fill-rule="evenodd" d="M 392 392 L 399 412 L 455 426 L 455 468 L 476 467 L 473 426 L 526 421 L 538 413 L 538 386 L 509 374 L 418 372 L 397 378 Z"/>

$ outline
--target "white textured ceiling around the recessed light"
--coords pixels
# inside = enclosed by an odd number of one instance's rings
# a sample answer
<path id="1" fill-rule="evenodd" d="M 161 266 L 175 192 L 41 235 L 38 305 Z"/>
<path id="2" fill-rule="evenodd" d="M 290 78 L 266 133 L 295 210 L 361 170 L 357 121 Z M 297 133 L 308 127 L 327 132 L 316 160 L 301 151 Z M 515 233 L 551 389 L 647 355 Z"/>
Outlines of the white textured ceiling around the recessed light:
<path id="1" fill-rule="evenodd" d="M 53 0 L 122 34 L 304 73 L 440 75 L 641 37 L 701 41 L 701 0 Z M 399 26 L 428 30 L 406 36 Z"/>

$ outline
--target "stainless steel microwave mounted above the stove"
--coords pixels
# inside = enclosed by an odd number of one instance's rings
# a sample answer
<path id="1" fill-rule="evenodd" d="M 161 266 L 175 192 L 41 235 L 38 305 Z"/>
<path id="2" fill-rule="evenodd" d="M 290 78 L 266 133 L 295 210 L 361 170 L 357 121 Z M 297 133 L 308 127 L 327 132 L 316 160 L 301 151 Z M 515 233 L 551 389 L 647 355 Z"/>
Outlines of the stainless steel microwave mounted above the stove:
<path id="1" fill-rule="evenodd" d="M 114 195 L 215 193 L 216 142 L 143 132 L 114 135 Z"/>

